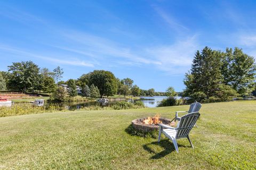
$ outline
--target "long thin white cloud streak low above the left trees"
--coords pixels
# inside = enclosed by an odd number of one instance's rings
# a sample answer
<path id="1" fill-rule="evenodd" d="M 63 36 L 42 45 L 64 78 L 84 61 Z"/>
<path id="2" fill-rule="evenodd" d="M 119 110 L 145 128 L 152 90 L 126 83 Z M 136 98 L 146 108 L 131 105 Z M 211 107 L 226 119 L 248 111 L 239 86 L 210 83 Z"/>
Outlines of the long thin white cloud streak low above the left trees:
<path id="1" fill-rule="evenodd" d="M 42 60 L 47 60 L 47 61 L 51 61 L 51 62 L 59 63 L 59 64 L 76 65 L 76 66 L 87 66 L 87 67 L 93 67 L 94 66 L 91 63 L 87 63 L 87 62 L 81 61 L 81 60 L 57 59 L 55 57 L 47 57 L 47 56 L 37 55 L 37 54 L 34 54 L 34 53 L 26 52 L 25 50 L 21 50 L 21 49 L 17 49 L 17 48 L 12 48 L 12 47 L 0 46 L 0 49 L 4 50 L 5 52 L 12 53 L 12 54 L 28 56 L 28 57 L 41 58 Z"/>

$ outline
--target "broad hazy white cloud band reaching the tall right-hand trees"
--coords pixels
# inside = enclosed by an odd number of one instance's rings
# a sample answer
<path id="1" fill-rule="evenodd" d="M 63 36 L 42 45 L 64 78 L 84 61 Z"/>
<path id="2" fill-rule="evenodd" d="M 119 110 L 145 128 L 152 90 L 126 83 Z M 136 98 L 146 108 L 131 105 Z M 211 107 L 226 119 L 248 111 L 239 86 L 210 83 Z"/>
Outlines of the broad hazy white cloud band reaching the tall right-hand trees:
<path id="1" fill-rule="evenodd" d="M 97 59 L 103 65 L 105 61 L 116 66 L 145 66 L 146 64 L 172 75 L 187 72 L 196 50 L 200 48 L 196 35 L 180 38 L 170 45 L 140 49 L 125 47 L 115 41 L 85 32 L 65 31 L 62 36 L 70 43 L 69 47 L 54 47 Z"/>

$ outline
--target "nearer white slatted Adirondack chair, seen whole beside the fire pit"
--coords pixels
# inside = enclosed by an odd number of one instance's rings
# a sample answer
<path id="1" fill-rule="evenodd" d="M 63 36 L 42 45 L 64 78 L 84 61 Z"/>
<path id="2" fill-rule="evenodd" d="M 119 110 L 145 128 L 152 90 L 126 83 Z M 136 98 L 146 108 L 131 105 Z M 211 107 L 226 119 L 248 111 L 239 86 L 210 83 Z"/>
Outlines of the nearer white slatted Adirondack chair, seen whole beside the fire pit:
<path id="1" fill-rule="evenodd" d="M 188 113 L 180 118 L 180 122 L 177 128 L 173 128 L 166 124 L 159 124 L 159 135 L 158 135 L 158 142 L 160 142 L 161 133 L 163 132 L 164 135 L 171 139 L 175 150 L 179 153 L 177 139 L 179 138 L 187 138 L 191 147 L 194 149 L 190 139 L 189 139 L 189 132 L 196 124 L 198 117 L 200 116 L 199 112 L 192 112 Z M 165 128 L 165 129 L 164 129 Z"/>

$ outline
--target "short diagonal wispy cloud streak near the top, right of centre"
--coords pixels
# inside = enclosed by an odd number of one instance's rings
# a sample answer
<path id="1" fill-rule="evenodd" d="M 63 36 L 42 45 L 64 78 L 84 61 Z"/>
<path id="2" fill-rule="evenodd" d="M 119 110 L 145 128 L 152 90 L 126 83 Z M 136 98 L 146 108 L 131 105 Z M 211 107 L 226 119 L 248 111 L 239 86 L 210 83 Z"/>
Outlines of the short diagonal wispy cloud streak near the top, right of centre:
<path id="1" fill-rule="evenodd" d="M 156 5 L 152 5 L 154 10 L 157 12 L 159 16 L 175 31 L 180 31 L 182 30 L 189 30 L 187 27 L 184 25 L 180 24 L 177 20 L 175 20 L 171 15 L 167 14 L 164 10 L 162 10 L 160 7 Z"/>

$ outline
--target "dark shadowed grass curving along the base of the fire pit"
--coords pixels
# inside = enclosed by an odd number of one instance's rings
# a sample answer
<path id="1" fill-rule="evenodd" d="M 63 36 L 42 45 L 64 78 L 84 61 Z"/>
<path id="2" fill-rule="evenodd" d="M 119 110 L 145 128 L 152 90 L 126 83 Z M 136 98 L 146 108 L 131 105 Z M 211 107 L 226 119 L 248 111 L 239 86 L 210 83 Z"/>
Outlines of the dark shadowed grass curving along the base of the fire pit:
<path id="1" fill-rule="evenodd" d="M 143 132 L 143 131 L 133 128 L 132 124 L 130 124 L 125 129 L 125 132 L 132 136 L 138 136 L 138 137 L 144 137 L 144 138 L 150 137 L 150 138 L 157 139 L 157 137 L 158 137 L 158 131 Z"/>

